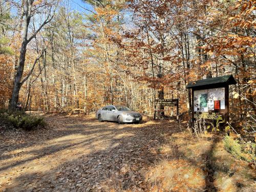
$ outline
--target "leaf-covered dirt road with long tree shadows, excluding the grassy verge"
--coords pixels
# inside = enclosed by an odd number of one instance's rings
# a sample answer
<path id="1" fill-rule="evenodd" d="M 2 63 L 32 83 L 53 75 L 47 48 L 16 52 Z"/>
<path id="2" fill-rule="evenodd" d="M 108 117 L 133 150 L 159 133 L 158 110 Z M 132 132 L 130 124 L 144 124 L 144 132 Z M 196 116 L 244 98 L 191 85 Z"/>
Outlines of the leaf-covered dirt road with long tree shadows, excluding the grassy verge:
<path id="1" fill-rule="evenodd" d="M 164 138 L 179 131 L 153 121 L 120 125 L 77 116 L 46 121 L 47 130 L 1 136 L 0 191 L 144 190 L 144 173 L 162 158 Z"/>

